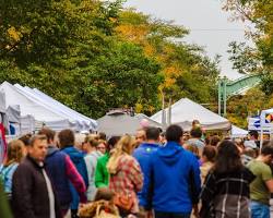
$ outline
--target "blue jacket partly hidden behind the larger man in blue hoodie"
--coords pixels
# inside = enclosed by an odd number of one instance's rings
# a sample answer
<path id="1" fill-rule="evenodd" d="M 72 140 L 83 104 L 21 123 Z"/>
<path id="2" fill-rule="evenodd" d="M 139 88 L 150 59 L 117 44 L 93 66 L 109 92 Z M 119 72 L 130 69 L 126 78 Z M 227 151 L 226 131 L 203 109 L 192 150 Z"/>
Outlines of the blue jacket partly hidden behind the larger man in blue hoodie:
<path id="1" fill-rule="evenodd" d="M 143 173 L 143 185 L 146 182 L 146 175 L 149 177 L 149 171 L 150 171 L 150 157 L 152 154 L 154 154 L 158 148 L 157 144 L 152 144 L 152 143 L 143 143 L 141 144 L 134 152 L 133 152 L 133 157 L 139 161 L 141 171 Z M 140 191 L 138 193 L 138 197 L 140 201 L 140 205 L 144 206 L 147 203 L 145 202 L 145 197 L 143 196 L 143 192 Z"/>

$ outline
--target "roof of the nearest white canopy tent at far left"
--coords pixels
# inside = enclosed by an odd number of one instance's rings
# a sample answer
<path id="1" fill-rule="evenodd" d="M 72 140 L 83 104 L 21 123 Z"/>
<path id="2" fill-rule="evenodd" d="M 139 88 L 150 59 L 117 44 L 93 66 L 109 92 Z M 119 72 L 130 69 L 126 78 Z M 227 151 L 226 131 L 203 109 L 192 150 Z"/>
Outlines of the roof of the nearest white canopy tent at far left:
<path id="1" fill-rule="evenodd" d="M 93 130 L 87 126 L 81 125 L 82 120 L 67 114 L 61 110 L 57 110 L 52 104 L 35 96 L 24 87 L 16 85 L 13 86 L 8 82 L 0 85 L 0 90 L 5 94 L 7 106 L 19 105 L 21 116 L 33 116 L 35 119 L 35 126 L 47 125 L 56 131 L 70 128 L 74 131 L 82 129 Z"/>

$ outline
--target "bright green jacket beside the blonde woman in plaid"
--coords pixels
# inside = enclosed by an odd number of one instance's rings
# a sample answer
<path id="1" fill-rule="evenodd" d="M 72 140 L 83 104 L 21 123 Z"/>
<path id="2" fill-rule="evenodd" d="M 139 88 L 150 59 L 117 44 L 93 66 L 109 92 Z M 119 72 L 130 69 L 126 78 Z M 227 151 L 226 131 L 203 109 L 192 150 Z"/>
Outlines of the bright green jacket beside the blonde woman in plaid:
<path id="1" fill-rule="evenodd" d="M 106 168 L 106 165 L 110 158 L 110 155 L 107 153 L 103 157 L 98 158 L 97 167 L 95 172 L 95 185 L 96 187 L 105 187 L 109 185 L 109 173 Z"/>

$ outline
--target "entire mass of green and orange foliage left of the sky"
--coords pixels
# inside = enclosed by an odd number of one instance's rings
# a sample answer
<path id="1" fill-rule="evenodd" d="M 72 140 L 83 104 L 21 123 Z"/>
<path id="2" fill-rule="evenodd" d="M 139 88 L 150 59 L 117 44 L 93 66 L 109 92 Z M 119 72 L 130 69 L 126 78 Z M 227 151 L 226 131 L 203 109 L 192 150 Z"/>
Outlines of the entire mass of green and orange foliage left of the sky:
<path id="1" fill-rule="evenodd" d="M 159 87 L 174 100 L 213 101 L 216 64 L 178 43 L 188 31 L 122 3 L 0 0 L 0 82 L 37 87 L 93 118 L 115 107 L 151 114 Z"/>

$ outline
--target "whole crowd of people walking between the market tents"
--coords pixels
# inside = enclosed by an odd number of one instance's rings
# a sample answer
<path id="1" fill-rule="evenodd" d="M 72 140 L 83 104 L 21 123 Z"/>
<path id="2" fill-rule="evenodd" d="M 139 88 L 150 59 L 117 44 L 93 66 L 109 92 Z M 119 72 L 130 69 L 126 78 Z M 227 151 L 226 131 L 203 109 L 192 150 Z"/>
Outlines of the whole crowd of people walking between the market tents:
<path id="1" fill-rule="evenodd" d="M 0 181 L 14 218 L 269 218 L 273 143 L 257 140 L 205 137 L 198 122 L 122 136 L 43 128 L 9 143 Z"/>

